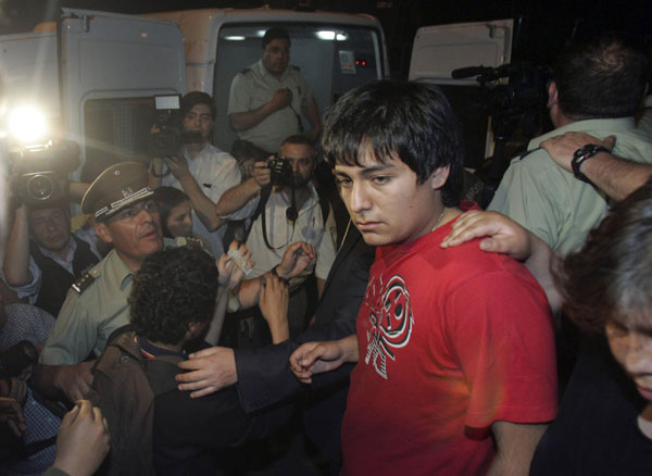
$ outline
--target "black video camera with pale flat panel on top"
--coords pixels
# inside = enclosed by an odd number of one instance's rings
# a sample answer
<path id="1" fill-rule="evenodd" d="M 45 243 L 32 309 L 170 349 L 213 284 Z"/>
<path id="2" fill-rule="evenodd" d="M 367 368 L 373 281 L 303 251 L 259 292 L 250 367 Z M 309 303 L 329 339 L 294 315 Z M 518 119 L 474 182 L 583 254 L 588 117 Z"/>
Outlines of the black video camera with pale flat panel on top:
<path id="1" fill-rule="evenodd" d="M 150 156 L 174 156 L 183 145 L 201 142 L 200 131 L 184 130 L 179 104 L 179 95 L 154 96 L 156 114 L 148 143 Z"/>

